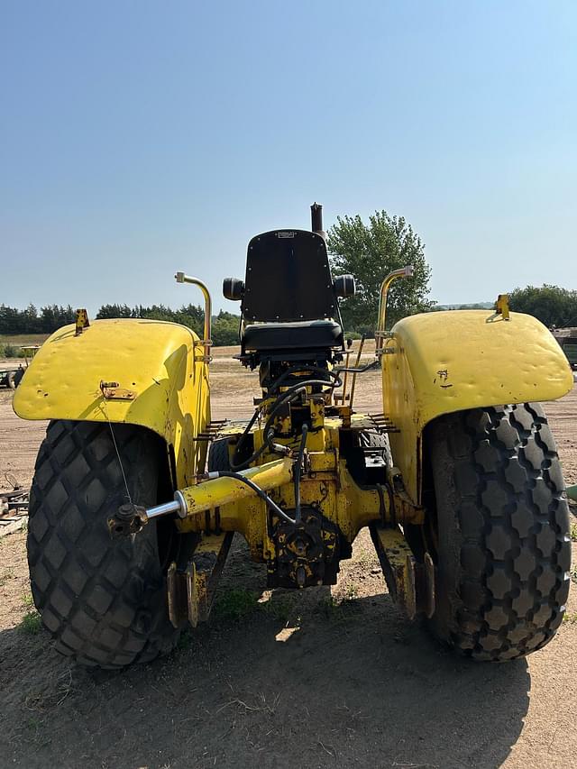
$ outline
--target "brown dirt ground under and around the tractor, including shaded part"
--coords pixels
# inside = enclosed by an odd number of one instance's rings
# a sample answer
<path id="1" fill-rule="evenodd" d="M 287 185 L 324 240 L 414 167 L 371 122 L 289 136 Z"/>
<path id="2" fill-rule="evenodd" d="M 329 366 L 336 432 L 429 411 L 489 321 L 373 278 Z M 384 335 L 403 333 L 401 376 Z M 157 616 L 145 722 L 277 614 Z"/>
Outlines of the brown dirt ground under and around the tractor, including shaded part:
<path id="1" fill-rule="evenodd" d="M 232 348 L 215 352 L 213 416 L 248 416 L 256 374 Z M 357 396 L 378 409 L 379 375 L 363 375 Z M 577 483 L 577 387 L 546 411 Z M 31 481 L 44 429 L 0 390 L 0 486 L 6 472 Z M 244 555 L 236 544 L 210 623 L 165 659 L 104 673 L 51 649 L 30 605 L 25 534 L 1 539 L 0 767 L 577 766 L 574 583 L 545 649 L 472 664 L 392 605 L 365 533 L 333 589 L 270 593 Z M 238 589 L 255 599 L 234 618 L 226 597 Z"/>

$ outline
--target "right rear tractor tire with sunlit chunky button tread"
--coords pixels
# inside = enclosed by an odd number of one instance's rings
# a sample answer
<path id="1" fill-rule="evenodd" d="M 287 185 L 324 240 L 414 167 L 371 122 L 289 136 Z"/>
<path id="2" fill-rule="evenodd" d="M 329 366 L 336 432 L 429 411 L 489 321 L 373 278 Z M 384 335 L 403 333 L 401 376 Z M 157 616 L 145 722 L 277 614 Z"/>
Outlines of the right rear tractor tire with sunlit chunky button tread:
<path id="1" fill-rule="evenodd" d="M 475 660 L 542 648 L 563 620 L 571 565 L 563 475 L 543 409 L 446 415 L 427 441 L 435 636 Z"/>

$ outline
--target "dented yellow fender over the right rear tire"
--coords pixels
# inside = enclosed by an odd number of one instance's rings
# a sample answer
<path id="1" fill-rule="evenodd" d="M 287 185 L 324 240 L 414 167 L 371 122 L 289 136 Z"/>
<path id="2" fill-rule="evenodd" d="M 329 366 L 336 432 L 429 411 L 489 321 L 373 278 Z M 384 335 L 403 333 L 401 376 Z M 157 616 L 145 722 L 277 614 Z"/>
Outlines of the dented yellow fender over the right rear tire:
<path id="1" fill-rule="evenodd" d="M 572 389 L 572 371 L 554 337 L 533 316 L 506 320 L 489 310 L 403 318 L 384 344 L 383 411 L 393 462 L 410 498 L 421 496 L 424 427 L 442 414 L 508 403 L 554 400 Z"/>

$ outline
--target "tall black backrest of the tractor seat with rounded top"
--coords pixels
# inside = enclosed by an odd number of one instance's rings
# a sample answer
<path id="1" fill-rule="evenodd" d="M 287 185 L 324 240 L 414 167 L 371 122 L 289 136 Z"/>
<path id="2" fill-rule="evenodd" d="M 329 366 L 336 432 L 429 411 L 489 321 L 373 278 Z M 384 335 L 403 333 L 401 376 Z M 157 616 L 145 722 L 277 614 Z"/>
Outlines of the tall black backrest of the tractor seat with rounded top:
<path id="1" fill-rule="evenodd" d="M 340 322 L 323 238 L 306 230 L 273 230 L 253 237 L 241 309 L 248 323 Z"/>

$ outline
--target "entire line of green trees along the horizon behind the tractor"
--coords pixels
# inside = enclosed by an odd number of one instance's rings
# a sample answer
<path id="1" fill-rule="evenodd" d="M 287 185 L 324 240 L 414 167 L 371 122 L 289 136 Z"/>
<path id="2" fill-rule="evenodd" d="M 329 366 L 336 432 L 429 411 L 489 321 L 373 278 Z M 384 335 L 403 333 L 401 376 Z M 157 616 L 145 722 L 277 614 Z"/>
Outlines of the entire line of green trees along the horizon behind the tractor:
<path id="1" fill-rule="evenodd" d="M 428 298 L 431 267 L 426 261 L 425 244 L 404 217 L 391 216 L 384 210 L 375 211 L 368 223 L 363 222 L 360 215 L 338 216 L 336 223 L 328 229 L 327 248 L 334 274 L 351 273 L 356 280 L 356 295 L 341 303 L 347 334 L 374 334 L 380 283 L 390 271 L 407 264 L 413 265 L 413 277 L 397 280 L 389 290 L 389 328 L 401 317 L 445 308 Z M 461 307 L 489 306 L 480 303 Z M 509 294 L 509 306 L 517 312 L 536 316 L 549 328 L 577 325 L 577 291 L 567 288 L 549 285 L 515 288 Z M 164 305 L 103 305 L 96 317 L 167 320 L 187 325 L 199 336 L 203 334 L 203 308 L 196 305 L 185 305 L 178 310 Z M 0 334 L 50 334 L 61 325 L 73 323 L 74 319 L 75 313 L 70 306 L 49 305 L 39 311 L 33 305 L 24 310 L 1 305 Z M 221 311 L 212 321 L 215 345 L 238 342 L 238 315 Z"/>

